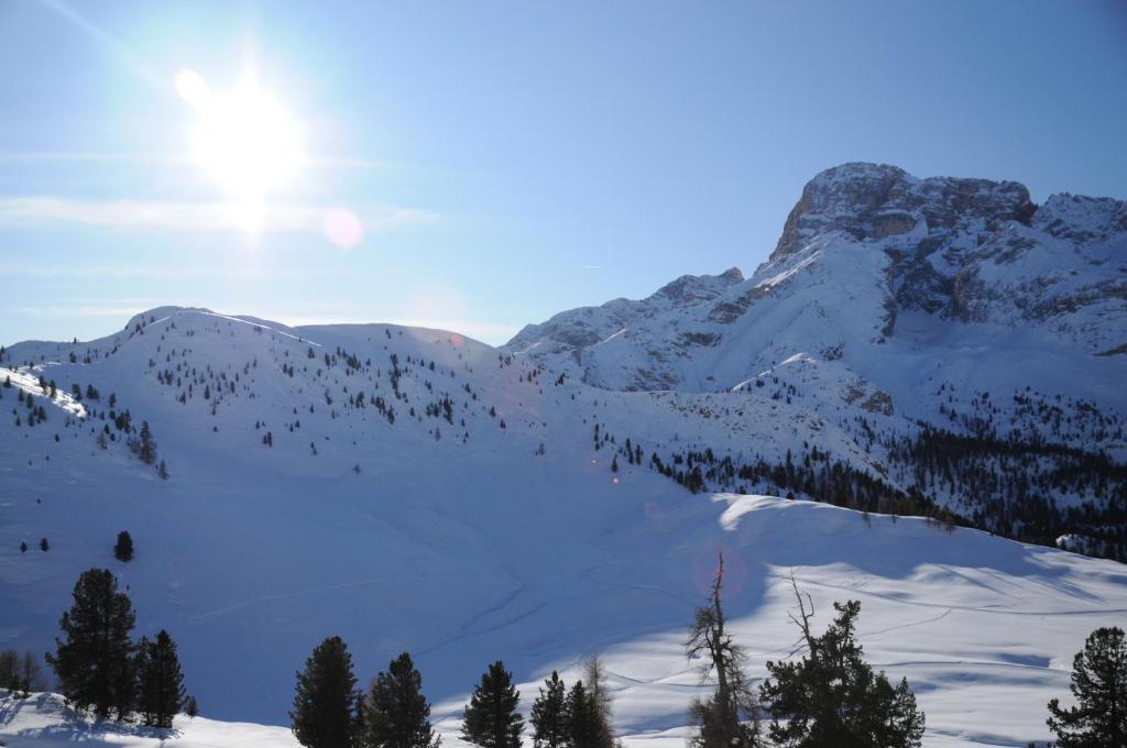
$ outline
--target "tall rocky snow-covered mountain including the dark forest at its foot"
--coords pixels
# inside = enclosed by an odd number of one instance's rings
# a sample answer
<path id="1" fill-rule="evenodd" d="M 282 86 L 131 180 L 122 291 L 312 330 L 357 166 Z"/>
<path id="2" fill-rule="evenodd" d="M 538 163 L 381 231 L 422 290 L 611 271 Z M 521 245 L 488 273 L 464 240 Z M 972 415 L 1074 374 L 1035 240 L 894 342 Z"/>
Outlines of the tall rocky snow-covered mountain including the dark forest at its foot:
<path id="1" fill-rule="evenodd" d="M 849 163 L 806 186 L 752 277 L 685 276 L 561 312 L 505 350 L 606 391 L 699 404 L 737 435 L 685 451 L 711 449 L 733 472 L 777 464 L 780 445 L 817 463 L 814 445 L 978 526 L 1038 542 L 1090 533 L 1091 552 L 1127 559 L 1122 202 L 1037 206 L 1015 182 Z M 738 434 L 733 412 L 758 433 Z"/>

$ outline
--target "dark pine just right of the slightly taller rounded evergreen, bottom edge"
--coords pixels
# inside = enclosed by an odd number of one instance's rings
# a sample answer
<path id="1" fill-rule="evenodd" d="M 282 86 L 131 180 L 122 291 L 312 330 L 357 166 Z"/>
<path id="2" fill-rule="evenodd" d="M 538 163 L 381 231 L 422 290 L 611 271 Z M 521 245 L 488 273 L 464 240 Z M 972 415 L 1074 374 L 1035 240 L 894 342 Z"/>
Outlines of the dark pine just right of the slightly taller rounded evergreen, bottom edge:
<path id="1" fill-rule="evenodd" d="M 375 676 L 361 713 L 366 748 L 437 748 L 442 741 L 431 728 L 423 676 L 407 652 Z"/>

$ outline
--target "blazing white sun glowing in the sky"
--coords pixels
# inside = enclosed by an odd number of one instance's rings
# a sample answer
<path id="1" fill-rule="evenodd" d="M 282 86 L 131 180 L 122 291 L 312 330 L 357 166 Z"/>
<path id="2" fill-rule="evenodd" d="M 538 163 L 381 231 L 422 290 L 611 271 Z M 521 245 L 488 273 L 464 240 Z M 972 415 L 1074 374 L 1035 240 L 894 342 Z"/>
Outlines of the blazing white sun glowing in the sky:
<path id="1" fill-rule="evenodd" d="M 195 160 L 234 199 L 239 222 L 255 231 L 266 199 L 301 167 L 301 131 L 285 107 L 246 77 L 229 91 L 213 92 L 197 73 L 183 70 L 176 90 L 198 110 Z"/>

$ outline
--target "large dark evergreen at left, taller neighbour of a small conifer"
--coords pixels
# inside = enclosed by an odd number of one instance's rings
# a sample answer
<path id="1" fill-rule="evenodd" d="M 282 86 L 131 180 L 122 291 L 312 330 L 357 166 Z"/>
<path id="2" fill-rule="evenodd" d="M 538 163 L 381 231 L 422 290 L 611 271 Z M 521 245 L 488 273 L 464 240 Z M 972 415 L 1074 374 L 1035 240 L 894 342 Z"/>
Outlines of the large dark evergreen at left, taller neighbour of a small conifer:
<path id="1" fill-rule="evenodd" d="M 128 595 L 117 591 L 108 569 L 82 572 L 74 604 L 59 620 L 65 641 L 56 638 L 56 651 L 46 658 L 63 695 L 78 709 L 92 706 L 99 718 L 116 710 L 118 720 L 131 711 L 134 618 Z"/>

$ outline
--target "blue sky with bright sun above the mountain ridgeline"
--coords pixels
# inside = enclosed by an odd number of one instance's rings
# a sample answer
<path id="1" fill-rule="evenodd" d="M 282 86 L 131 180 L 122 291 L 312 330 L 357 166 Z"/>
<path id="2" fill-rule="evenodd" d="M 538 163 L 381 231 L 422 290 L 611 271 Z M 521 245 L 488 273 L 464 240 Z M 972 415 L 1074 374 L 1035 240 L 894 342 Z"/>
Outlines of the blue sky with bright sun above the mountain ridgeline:
<path id="1" fill-rule="evenodd" d="M 0 0 L 0 342 L 180 304 L 499 344 L 751 273 L 845 161 L 1127 197 L 1127 3 Z"/>

